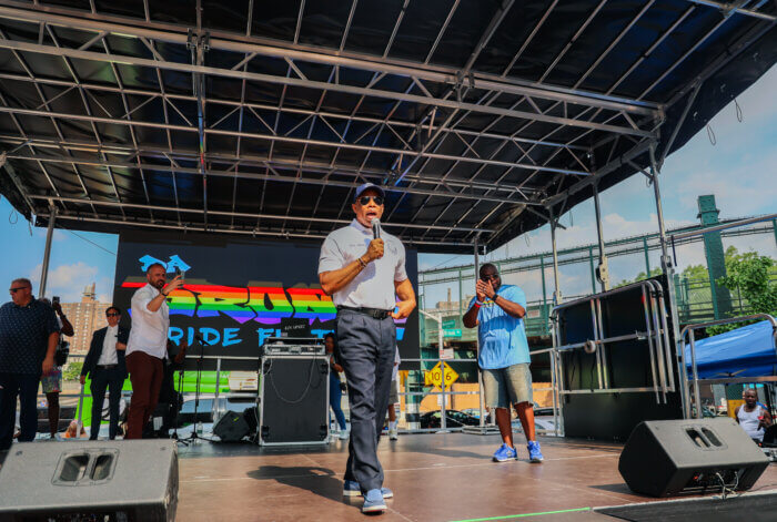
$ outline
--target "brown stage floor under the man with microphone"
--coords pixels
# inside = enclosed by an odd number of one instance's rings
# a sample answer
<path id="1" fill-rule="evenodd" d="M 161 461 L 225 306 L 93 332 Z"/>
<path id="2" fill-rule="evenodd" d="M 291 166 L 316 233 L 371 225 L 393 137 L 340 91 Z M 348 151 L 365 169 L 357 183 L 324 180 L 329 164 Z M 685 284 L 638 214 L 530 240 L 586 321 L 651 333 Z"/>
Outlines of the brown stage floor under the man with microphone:
<path id="1" fill-rule="evenodd" d="M 537 522 L 612 522 L 616 519 L 592 508 L 656 501 L 632 493 L 624 483 L 617 470 L 620 444 L 556 438 L 539 442 L 545 462 L 532 464 L 525 446 L 518 447 L 521 460 L 492 462 L 498 436 L 384 438 L 379 457 L 384 485 L 395 497 L 386 501 L 389 510 L 380 520 L 491 522 L 533 515 L 528 519 Z M 362 521 L 361 497 L 342 495 L 346 443 L 294 450 L 209 442 L 182 447 L 178 520 Z M 773 491 L 777 464 L 739 499 Z"/>

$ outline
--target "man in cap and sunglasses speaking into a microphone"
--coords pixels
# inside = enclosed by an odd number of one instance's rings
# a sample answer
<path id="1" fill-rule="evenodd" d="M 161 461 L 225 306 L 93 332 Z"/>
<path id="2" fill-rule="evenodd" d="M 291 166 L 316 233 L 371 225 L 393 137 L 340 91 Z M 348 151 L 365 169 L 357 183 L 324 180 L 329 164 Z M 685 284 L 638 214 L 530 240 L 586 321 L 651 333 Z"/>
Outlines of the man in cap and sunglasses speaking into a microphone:
<path id="1" fill-rule="evenodd" d="M 394 319 L 407 317 L 415 308 L 415 291 L 405 272 L 405 247 L 391 234 L 373 237 L 371 224 L 383 215 L 384 197 L 381 187 L 361 185 L 351 205 L 356 218 L 326 236 L 319 258 L 321 288 L 337 307 L 336 355 L 345 371 L 351 405 L 343 494 L 363 494 L 365 513 L 385 511 L 383 499 L 393 495 L 383 488 L 376 449 L 394 364 Z"/>

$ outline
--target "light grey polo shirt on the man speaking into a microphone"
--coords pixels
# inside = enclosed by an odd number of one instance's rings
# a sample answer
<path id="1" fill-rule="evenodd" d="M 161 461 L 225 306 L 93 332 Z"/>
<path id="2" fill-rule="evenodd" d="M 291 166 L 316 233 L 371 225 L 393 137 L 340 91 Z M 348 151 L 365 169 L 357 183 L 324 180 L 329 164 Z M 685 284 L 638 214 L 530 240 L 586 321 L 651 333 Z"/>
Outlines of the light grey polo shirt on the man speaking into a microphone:
<path id="1" fill-rule="evenodd" d="M 394 282 L 407 279 L 405 247 L 402 242 L 383 232 L 383 257 L 367 263 L 366 268 L 340 291 L 332 295 L 335 306 L 392 310 L 396 306 Z M 339 270 L 363 256 L 373 239 L 372 228 L 353 219 L 343 228 L 330 233 L 319 257 L 319 274 Z"/>

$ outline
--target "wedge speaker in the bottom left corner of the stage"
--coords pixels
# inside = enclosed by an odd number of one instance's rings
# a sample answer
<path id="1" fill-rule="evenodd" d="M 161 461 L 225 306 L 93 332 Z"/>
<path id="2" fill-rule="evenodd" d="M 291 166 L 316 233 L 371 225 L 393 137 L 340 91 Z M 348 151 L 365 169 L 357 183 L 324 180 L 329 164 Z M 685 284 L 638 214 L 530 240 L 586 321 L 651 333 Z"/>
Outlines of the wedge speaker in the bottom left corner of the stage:
<path id="1" fill-rule="evenodd" d="M 0 521 L 173 521 L 170 440 L 21 442 L 0 468 Z"/>

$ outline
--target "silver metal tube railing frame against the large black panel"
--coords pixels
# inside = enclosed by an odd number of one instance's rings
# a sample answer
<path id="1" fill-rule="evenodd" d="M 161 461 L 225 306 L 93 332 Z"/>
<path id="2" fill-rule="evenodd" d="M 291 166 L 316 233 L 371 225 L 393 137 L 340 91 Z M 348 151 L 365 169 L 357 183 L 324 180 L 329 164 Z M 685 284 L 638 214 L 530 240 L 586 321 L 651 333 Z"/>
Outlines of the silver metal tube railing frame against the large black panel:
<path id="1" fill-rule="evenodd" d="M 633 334 L 618 336 L 605 336 L 605 323 L 602 314 L 602 299 L 615 294 L 639 289 L 642 291 L 643 315 L 645 320 L 644 329 L 635 330 Z M 581 342 L 562 344 L 562 328 L 559 313 L 571 306 L 579 306 L 585 303 L 591 307 L 591 321 L 593 339 Z M 557 354 L 557 365 L 554 371 L 555 382 L 557 382 L 558 395 L 571 393 L 620 393 L 620 392 L 652 392 L 656 396 L 657 403 L 667 402 L 667 393 L 676 389 L 672 349 L 669 341 L 669 326 L 667 319 L 666 304 L 664 300 L 664 289 L 656 280 L 648 279 L 620 288 L 616 288 L 602 294 L 595 294 L 582 299 L 565 303 L 556 306 L 552 313 L 553 318 L 553 344 Z M 650 362 L 652 386 L 644 388 L 610 388 L 610 367 L 607 362 L 607 345 L 626 340 L 647 341 L 648 359 Z M 586 354 L 596 356 L 596 387 L 592 389 L 567 390 L 564 387 L 564 365 L 561 354 L 569 350 L 583 350 Z M 592 370 L 593 371 L 593 370 Z"/>

